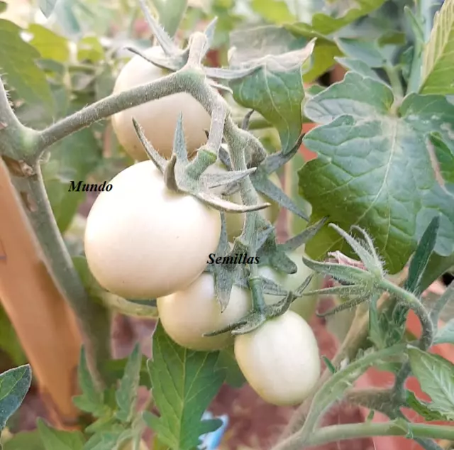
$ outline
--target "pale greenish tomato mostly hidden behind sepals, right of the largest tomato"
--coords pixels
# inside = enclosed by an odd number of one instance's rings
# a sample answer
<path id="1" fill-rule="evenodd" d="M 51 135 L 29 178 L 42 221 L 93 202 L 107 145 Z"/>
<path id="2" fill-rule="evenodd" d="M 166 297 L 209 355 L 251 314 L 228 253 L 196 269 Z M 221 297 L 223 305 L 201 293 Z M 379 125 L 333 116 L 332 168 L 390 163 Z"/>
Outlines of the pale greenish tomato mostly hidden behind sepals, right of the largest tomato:
<path id="1" fill-rule="evenodd" d="M 216 173 L 216 172 L 225 172 L 226 168 L 224 168 L 221 163 L 216 162 L 214 165 L 211 165 L 206 172 L 207 173 Z M 282 188 L 281 182 L 279 181 L 279 177 L 272 173 L 270 176 L 270 180 L 279 188 Z M 221 194 L 223 190 L 223 186 L 215 187 L 211 191 L 215 194 Z M 242 204 L 241 201 L 241 194 L 240 191 L 235 192 L 235 194 L 231 194 L 227 197 L 230 202 Z M 265 209 L 260 210 L 260 214 L 262 217 L 270 221 L 272 224 L 275 223 L 277 216 L 279 215 L 279 204 L 274 202 L 272 199 L 269 199 L 265 195 L 258 193 L 258 202 L 259 203 L 270 203 L 271 206 Z M 233 241 L 234 238 L 240 236 L 241 231 L 243 231 L 244 221 L 246 219 L 245 213 L 238 213 L 238 212 L 226 212 L 226 230 L 227 236 L 229 241 Z"/>

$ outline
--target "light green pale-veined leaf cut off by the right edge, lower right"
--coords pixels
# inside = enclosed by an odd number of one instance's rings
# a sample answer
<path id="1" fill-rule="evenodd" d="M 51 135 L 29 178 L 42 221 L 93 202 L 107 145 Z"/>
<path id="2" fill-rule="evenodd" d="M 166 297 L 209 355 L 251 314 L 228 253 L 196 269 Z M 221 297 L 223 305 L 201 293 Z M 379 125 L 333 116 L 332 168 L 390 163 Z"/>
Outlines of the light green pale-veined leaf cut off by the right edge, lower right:
<path id="1" fill-rule="evenodd" d="M 411 371 L 421 389 L 431 397 L 432 411 L 454 419 L 454 365 L 438 355 L 419 349 L 409 349 Z"/>

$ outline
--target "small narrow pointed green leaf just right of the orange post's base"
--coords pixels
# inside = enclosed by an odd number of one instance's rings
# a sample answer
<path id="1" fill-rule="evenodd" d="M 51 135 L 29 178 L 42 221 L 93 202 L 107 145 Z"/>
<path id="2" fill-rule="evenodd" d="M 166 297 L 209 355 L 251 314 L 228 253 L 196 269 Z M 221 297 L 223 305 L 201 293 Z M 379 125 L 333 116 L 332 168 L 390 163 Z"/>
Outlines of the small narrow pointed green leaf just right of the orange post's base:
<path id="1" fill-rule="evenodd" d="M 72 399 L 74 405 L 82 411 L 91 412 L 95 417 L 99 417 L 106 410 L 104 393 L 97 389 L 94 384 L 92 374 L 89 372 L 87 366 L 87 357 L 85 356 L 85 348 L 83 346 L 80 351 L 77 378 L 79 380 L 79 386 L 82 389 L 82 395 L 78 395 Z"/>

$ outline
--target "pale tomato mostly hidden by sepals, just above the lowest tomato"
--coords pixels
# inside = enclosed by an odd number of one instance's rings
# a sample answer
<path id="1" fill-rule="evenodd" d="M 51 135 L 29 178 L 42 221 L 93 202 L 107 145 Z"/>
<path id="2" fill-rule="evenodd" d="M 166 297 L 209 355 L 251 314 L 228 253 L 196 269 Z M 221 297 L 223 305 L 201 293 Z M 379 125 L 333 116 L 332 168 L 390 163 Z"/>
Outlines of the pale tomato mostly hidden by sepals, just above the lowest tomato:
<path id="1" fill-rule="evenodd" d="M 287 290 L 296 290 L 309 275 L 314 274 L 309 286 L 306 287 L 306 291 L 316 290 L 321 287 L 321 276 L 314 273 L 313 270 L 303 263 L 302 256 L 305 256 L 304 250 L 298 249 L 297 251 L 292 251 L 287 253 L 287 256 L 297 265 L 298 271 L 296 273 L 287 274 L 278 272 L 269 265 L 260 266 L 258 273 L 262 277 L 270 278 L 270 280 L 277 282 Z M 290 309 L 299 314 L 303 319 L 309 320 L 315 312 L 317 299 L 317 295 L 299 297 L 297 300 L 294 300 Z M 273 304 L 282 300 L 282 296 L 265 294 L 264 300 L 266 304 Z"/>

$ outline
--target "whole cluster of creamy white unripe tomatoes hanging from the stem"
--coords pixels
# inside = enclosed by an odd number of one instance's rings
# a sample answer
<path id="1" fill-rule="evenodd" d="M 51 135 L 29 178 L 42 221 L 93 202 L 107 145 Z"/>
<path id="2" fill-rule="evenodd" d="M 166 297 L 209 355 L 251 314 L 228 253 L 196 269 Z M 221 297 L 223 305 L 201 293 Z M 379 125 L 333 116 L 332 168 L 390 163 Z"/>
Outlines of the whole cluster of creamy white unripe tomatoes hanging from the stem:
<path id="1" fill-rule="evenodd" d="M 162 50 L 150 48 L 145 54 L 160 56 Z M 114 92 L 164 75 L 160 67 L 135 56 L 118 75 Z M 150 101 L 112 117 L 118 141 L 138 163 L 111 180 L 112 190 L 101 192 L 89 213 L 84 237 L 89 268 L 109 292 L 126 299 L 157 299 L 162 326 L 180 346 L 216 351 L 234 344 L 238 366 L 263 399 L 276 405 L 297 404 L 309 394 L 320 373 L 319 349 L 306 323 L 314 312 L 314 298 L 296 300 L 292 310 L 248 334 L 203 336 L 244 317 L 250 311 L 251 297 L 249 290 L 234 285 L 221 313 L 213 275 L 204 273 L 207 257 L 218 246 L 220 213 L 191 195 L 168 190 L 136 136 L 133 118 L 153 147 L 169 158 L 180 111 L 192 155 L 206 142 L 204 130 L 209 129 L 211 118 L 187 93 Z M 273 182 L 278 184 L 278 178 Z M 239 203 L 240 195 L 229 199 Z M 261 214 L 274 222 L 278 210 L 274 204 Z M 244 219 L 244 214 L 226 214 L 229 239 L 239 236 Z M 298 267 L 293 275 L 266 266 L 259 273 L 294 290 L 310 273 L 301 255 L 289 254 Z M 265 295 L 268 304 L 280 299 Z"/>

